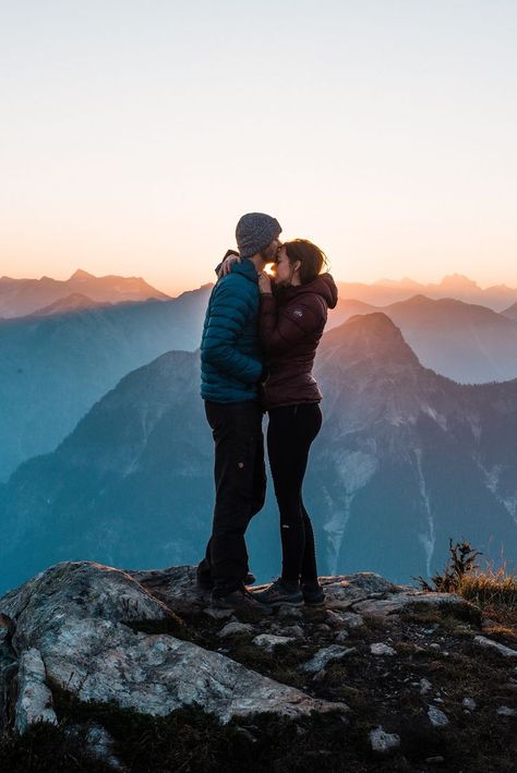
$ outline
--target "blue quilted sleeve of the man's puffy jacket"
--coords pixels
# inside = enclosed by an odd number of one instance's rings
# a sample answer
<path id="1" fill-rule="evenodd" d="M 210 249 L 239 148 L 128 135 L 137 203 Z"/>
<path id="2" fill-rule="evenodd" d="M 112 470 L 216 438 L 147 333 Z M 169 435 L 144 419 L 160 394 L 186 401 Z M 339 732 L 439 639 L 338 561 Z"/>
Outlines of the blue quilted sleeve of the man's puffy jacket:
<path id="1" fill-rule="evenodd" d="M 248 279 L 244 279 L 248 282 Z M 245 286 L 244 286 L 245 288 Z M 260 381 L 262 362 L 238 351 L 239 339 L 251 312 L 252 298 L 243 291 L 242 279 L 229 274 L 213 291 L 202 361 L 244 384 Z"/>

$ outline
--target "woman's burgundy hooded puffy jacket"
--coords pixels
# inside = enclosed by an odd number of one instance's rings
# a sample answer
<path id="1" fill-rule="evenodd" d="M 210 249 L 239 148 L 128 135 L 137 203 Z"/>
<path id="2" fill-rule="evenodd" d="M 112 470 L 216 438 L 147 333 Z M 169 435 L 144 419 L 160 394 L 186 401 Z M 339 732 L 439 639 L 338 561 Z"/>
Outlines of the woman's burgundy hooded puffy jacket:
<path id="1" fill-rule="evenodd" d="M 279 288 L 261 295 L 260 334 L 267 378 L 264 407 L 318 402 L 322 394 L 312 375 L 327 309 L 337 303 L 337 287 L 329 274 L 306 285 Z"/>

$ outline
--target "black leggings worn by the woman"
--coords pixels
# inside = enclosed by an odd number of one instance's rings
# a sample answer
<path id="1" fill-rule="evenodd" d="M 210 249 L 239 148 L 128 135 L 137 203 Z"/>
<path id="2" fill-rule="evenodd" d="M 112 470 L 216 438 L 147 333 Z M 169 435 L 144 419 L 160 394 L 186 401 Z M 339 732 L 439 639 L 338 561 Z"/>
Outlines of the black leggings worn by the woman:
<path id="1" fill-rule="evenodd" d="M 281 578 L 288 582 L 317 580 L 314 532 L 303 505 L 302 484 L 311 443 L 321 426 L 317 402 L 269 410 L 267 451 L 280 510 Z"/>

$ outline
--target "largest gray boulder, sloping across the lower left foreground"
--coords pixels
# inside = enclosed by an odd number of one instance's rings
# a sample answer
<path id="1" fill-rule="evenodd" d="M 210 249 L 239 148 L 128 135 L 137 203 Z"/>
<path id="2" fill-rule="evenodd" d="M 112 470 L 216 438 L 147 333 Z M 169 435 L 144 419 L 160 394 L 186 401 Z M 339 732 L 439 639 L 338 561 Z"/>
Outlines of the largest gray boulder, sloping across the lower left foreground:
<path id="1" fill-rule="evenodd" d="M 148 588 L 128 572 L 76 561 L 58 564 L 0 600 L 20 653 L 17 727 L 43 714 L 53 720 L 45 674 L 81 700 L 112 700 L 152 715 L 193 702 L 223 722 L 262 711 L 297 717 L 346 710 L 192 642 L 134 631 L 128 621 L 170 616 Z"/>

